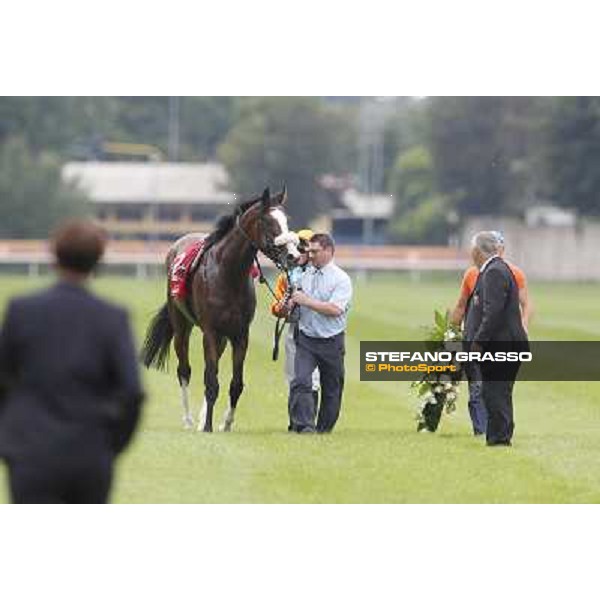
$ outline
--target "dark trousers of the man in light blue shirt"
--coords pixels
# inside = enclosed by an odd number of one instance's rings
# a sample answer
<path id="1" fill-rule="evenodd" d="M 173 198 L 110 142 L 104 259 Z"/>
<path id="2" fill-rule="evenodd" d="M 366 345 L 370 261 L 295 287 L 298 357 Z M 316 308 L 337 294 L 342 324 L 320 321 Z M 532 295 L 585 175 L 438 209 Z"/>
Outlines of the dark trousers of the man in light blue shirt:
<path id="1" fill-rule="evenodd" d="M 313 338 L 298 332 L 295 376 L 290 387 L 290 423 L 295 431 L 314 431 L 315 401 L 312 373 L 321 375 L 321 403 L 316 430 L 327 433 L 334 428 L 341 409 L 344 389 L 344 333 L 330 338 Z"/>

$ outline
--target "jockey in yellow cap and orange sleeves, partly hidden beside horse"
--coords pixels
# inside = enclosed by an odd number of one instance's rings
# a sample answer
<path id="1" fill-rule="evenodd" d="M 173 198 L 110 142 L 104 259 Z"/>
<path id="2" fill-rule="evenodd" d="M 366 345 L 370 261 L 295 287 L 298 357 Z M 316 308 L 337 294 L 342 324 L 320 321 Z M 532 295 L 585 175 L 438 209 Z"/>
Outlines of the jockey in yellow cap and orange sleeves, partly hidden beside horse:
<path id="1" fill-rule="evenodd" d="M 289 273 L 289 281 L 291 283 L 292 289 L 289 289 L 288 286 L 288 277 L 285 273 L 280 273 L 275 281 L 275 300 L 271 304 L 271 313 L 278 318 L 285 318 L 288 323 L 288 331 L 285 337 L 285 364 L 284 364 L 284 373 L 285 378 L 288 383 L 288 410 L 289 410 L 289 402 L 291 401 L 291 385 L 292 380 L 294 379 L 294 363 L 296 360 L 296 338 L 298 335 L 298 321 L 300 319 L 300 311 L 298 309 L 293 310 L 291 312 L 287 309 L 287 300 L 289 299 L 291 293 L 294 289 L 298 289 L 300 285 L 300 280 L 306 268 L 309 266 L 308 259 L 308 246 L 310 243 L 310 238 L 313 236 L 313 232 L 310 229 L 301 229 L 298 231 L 298 239 L 300 240 L 298 244 L 298 251 L 300 252 L 300 257 L 296 262 L 296 267 L 294 267 Z M 315 368 L 312 373 L 312 390 L 313 390 L 313 398 L 315 402 L 315 410 L 319 404 L 319 387 L 320 387 L 320 377 L 319 377 L 319 369 Z M 288 431 L 292 431 L 293 427 L 290 422 L 288 425 Z"/>

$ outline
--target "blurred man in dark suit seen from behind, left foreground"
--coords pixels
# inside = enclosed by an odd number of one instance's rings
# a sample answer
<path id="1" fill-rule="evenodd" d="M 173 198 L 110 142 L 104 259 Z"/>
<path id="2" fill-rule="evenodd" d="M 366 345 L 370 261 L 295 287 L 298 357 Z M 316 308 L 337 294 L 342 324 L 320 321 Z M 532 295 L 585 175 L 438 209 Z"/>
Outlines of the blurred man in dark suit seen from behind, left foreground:
<path id="1" fill-rule="evenodd" d="M 0 332 L 0 457 L 13 502 L 106 502 L 143 391 L 127 313 L 85 286 L 106 244 L 88 221 L 53 240 L 59 281 L 10 302 Z"/>

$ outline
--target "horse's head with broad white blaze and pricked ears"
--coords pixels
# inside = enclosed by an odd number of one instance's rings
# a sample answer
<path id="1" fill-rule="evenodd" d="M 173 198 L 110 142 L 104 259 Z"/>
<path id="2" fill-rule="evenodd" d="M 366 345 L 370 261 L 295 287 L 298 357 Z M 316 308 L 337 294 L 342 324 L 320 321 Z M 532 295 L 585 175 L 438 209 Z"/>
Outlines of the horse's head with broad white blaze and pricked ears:
<path id="1" fill-rule="evenodd" d="M 244 213 L 243 228 L 258 250 L 270 258 L 278 267 L 289 268 L 300 256 L 298 236 L 288 229 L 285 203 L 287 191 L 271 196 L 265 189 L 260 201 Z"/>

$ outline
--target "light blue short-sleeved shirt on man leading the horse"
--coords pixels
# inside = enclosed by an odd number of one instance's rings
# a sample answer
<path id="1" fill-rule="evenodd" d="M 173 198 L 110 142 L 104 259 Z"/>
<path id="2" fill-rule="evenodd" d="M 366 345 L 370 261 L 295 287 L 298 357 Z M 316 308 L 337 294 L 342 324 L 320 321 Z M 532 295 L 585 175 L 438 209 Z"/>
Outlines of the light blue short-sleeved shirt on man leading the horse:
<path id="1" fill-rule="evenodd" d="M 342 309 L 337 316 L 318 313 L 307 306 L 300 307 L 300 331 L 316 338 L 328 338 L 346 329 L 350 301 L 352 300 L 352 282 L 348 274 L 333 261 L 321 269 L 308 267 L 300 280 L 302 291 L 320 302 L 331 302 Z"/>

